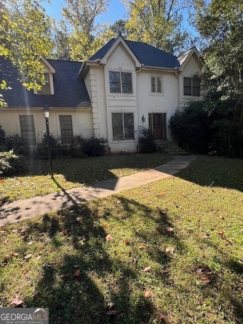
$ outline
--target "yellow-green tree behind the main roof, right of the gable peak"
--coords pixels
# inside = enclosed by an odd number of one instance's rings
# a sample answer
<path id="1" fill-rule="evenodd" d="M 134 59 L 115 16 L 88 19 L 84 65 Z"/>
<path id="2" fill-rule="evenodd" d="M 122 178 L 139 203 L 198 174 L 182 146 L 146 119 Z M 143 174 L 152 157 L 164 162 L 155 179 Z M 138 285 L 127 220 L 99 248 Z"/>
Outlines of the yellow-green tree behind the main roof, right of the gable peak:
<path id="1" fill-rule="evenodd" d="M 145 42 L 170 53 L 188 49 L 189 33 L 182 27 L 186 0 L 124 0 L 132 41 Z"/>

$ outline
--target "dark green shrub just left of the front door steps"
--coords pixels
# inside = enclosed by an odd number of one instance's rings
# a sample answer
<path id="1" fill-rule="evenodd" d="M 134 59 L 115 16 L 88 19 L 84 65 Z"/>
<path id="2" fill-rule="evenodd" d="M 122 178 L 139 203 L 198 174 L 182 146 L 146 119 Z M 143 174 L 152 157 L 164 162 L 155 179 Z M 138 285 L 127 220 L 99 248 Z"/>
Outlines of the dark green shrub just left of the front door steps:
<path id="1" fill-rule="evenodd" d="M 157 151 L 155 139 L 150 129 L 144 126 L 139 126 L 138 134 L 139 151 L 141 153 L 151 153 Z"/>

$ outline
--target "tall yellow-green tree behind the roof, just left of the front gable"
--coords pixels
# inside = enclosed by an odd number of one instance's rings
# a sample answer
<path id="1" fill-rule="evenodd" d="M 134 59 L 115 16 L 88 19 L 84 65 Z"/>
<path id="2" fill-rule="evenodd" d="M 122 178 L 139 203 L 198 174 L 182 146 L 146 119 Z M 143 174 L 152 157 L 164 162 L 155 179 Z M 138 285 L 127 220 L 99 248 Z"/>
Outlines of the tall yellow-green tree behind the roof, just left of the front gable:
<path id="1" fill-rule="evenodd" d="M 63 17 L 71 27 L 71 56 L 75 60 L 85 60 L 100 46 L 104 28 L 96 20 L 106 13 L 108 0 L 65 0 Z"/>

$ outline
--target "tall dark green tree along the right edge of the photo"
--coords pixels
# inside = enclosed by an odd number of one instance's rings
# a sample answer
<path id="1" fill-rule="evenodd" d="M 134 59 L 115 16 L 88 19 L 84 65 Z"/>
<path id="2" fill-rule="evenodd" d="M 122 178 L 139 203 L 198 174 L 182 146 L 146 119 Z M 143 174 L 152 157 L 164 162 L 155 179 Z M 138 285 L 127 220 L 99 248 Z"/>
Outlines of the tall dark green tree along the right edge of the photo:
<path id="1" fill-rule="evenodd" d="M 227 115 L 228 153 L 237 129 L 237 153 L 243 153 L 243 3 L 241 0 L 195 0 L 195 27 L 205 39 L 204 57 L 214 73 L 218 100 L 210 101 L 215 110 Z M 212 83 L 211 83 L 212 85 Z M 209 85 L 209 96 L 215 97 Z M 228 111 L 230 109 L 230 113 Z M 230 117 L 230 119 L 228 119 Z M 222 120 L 221 130 L 224 130 Z M 225 140 L 225 139 L 224 139 Z"/>

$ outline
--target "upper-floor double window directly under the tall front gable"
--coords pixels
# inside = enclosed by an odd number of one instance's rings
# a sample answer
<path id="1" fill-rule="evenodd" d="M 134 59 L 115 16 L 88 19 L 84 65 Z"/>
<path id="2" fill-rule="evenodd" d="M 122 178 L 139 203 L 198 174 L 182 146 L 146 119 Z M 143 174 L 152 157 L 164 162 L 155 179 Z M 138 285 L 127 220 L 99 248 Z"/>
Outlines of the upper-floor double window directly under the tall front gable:
<path id="1" fill-rule="evenodd" d="M 133 93 L 132 73 L 109 72 L 111 93 Z"/>

